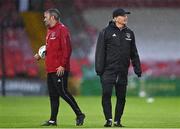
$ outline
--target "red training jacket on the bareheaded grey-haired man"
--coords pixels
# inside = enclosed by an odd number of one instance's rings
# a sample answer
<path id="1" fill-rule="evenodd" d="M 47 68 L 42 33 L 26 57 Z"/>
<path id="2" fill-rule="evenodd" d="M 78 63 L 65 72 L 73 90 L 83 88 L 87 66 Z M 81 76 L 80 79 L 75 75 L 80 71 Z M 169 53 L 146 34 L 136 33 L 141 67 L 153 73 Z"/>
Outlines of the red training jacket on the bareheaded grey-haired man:
<path id="1" fill-rule="evenodd" d="M 59 66 L 70 70 L 71 43 L 69 30 L 62 23 L 48 28 L 46 35 L 46 71 L 56 72 Z"/>

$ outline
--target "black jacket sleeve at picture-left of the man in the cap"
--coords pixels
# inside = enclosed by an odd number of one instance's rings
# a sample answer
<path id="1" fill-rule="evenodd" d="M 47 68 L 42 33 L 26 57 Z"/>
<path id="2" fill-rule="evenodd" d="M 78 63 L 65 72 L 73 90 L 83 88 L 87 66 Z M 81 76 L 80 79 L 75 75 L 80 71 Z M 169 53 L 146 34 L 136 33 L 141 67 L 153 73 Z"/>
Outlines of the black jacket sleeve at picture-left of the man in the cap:
<path id="1" fill-rule="evenodd" d="M 104 32 L 105 30 L 99 33 L 99 37 L 96 45 L 95 53 L 95 70 L 97 75 L 101 76 L 104 72 L 105 65 L 105 43 L 104 43 Z"/>

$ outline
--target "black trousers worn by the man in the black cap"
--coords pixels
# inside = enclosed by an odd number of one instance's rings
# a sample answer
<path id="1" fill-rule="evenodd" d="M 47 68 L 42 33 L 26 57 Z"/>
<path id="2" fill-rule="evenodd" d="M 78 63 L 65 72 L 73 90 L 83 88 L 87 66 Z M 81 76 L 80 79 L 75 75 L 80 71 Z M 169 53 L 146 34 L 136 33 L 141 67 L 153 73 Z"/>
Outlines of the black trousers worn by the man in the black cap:
<path id="1" fill-rule="evenodd" d="M 107 82 L 102 83 L 102 107 L 105 119 L 112 119 L 112 104 L 111 96 L 113 86 L 115 86 L 116 94 L 116 107 L 115 107 L 115 116 L 114 121 L 121 122 L 121 116 L 124 111 L 124 106 L 126 102 L 126 89 L 127 85 L 113 84 Z"/>

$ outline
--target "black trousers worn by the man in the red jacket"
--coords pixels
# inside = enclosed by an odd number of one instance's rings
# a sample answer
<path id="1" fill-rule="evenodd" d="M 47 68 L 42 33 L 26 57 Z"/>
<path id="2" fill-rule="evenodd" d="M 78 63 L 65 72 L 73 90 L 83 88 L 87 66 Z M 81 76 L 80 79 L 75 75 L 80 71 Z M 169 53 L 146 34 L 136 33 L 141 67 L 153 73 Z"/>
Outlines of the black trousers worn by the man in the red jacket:
<path id="1" fill-rule="evenodd" d="M 50 120 L 56 121 L 58 109 L 59 109 L 59 97 L 62 97 L 73 109 L 76 116 L 81 115 L 82 112 L 77 105 L 73 96 L 68 92 L 67 89 L 68 72 L 65 72 L 63 76 L 58 77 L 56 73 L 48 73 L 47 83 L 48 91 L 51 104 L 51 118 Z"/>

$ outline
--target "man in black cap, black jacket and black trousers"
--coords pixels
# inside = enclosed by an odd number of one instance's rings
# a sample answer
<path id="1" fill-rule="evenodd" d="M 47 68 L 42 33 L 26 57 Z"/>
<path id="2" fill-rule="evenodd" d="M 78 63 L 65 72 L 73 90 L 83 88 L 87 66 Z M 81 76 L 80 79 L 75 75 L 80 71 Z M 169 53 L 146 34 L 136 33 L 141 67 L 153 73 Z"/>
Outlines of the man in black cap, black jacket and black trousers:
<path id="1" fill-rule="evenodd" d="M 113 86 L 117 97 L 114 126 L 123 127 L 121 116 L 125 106 L 127 75 L 130 61 L 134 72 L 141 77 L 141 64 L 135 44 L 135 37 L 127 24 L 127 14 L 119 8 L 113 11 L 113 20 L 103 29 L 96 46 L 95 68 L 102 84 L 102 106 L 105 127 L 112 126 L 111 95 Z"/>

